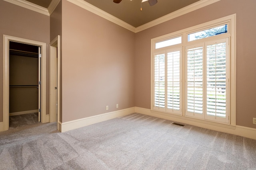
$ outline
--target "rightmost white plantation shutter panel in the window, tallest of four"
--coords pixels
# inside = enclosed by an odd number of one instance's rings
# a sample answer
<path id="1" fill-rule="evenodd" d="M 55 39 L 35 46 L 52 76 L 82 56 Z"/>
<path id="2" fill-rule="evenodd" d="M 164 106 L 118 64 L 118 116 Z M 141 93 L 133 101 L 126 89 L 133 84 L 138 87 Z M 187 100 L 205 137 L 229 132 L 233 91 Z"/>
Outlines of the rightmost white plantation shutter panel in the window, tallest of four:
<path id="1" fill-rule="evenodd" d="M 226 118 L 228 113 L 227 94 L 229 77 L 228 39 L 210 42 L 206 50 L 207 118 Z M 220 119 L 219 121 L 227 122 L 228 119 Z"/>

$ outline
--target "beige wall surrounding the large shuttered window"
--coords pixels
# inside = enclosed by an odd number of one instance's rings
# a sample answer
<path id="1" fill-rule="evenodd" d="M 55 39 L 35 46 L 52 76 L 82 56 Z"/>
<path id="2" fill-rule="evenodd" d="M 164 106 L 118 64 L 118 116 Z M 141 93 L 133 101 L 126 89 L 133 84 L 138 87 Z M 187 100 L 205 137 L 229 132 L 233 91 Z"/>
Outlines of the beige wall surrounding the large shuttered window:
<path id="1" fill-rule="evenodd" d="M 135 105 L 150 109 L 150 40 L 200 23 L 236 14 L 236 124 L 256 128 L 256 1 L 221 0 L 136 33 Z"/>

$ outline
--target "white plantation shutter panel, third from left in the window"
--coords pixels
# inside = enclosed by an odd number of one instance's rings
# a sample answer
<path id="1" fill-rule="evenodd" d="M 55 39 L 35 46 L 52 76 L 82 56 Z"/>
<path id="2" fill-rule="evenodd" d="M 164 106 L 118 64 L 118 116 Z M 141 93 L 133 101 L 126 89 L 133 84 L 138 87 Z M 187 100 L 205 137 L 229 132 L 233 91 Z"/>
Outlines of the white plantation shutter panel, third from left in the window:
<path id="1" fill-rule="evenodd" d="M 187 49 L 187 112 L 203 113 L 203 47 Z M 200 117 L 200 116 L 199 116 Z"/>

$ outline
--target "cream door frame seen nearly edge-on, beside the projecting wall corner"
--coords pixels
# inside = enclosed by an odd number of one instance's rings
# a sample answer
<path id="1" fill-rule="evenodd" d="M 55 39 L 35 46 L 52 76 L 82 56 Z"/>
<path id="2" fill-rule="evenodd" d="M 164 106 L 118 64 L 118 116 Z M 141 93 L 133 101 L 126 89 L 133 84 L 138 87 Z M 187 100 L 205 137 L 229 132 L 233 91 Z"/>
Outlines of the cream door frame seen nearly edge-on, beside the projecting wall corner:
<path id="1" fill-rule="evenodd" d="M 56 65 L 57 57 L 57 65 Z M 57 68 L 56 68 L 57 66 Z M 56 77 L 57 76 L 57 77 Z M 57 80 L 57 94 L 55 92 L 55 81 Z M 57 110 L 58 118 L 56 120 L 56 98 L 58 98 Z M 60 123 L 60 35 L 50 43 L 50 122 L 58 123 L 58 131 L 61 131 Z"/>

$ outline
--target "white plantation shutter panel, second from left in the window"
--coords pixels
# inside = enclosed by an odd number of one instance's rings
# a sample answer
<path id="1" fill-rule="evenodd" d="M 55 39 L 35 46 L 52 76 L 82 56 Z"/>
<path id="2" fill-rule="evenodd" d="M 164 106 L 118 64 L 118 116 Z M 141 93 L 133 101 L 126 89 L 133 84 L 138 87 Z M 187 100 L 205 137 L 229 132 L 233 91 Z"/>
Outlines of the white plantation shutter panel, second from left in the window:
<path id="1" fill-rule="evenodd" d="M 167 53 L 167 109 L 173 113 L 180 113 L 180 57 L 178 51 Z"/>

